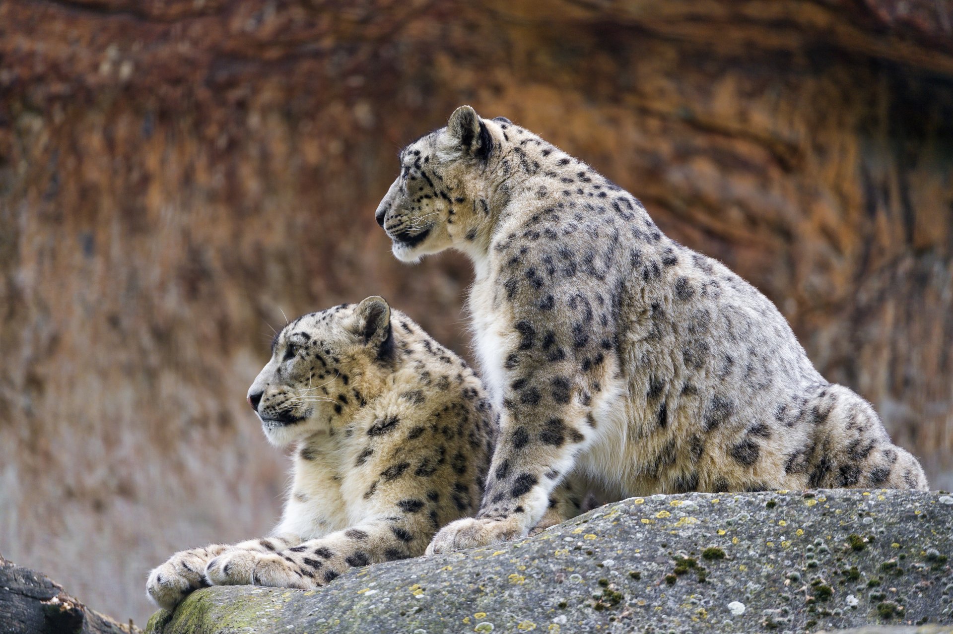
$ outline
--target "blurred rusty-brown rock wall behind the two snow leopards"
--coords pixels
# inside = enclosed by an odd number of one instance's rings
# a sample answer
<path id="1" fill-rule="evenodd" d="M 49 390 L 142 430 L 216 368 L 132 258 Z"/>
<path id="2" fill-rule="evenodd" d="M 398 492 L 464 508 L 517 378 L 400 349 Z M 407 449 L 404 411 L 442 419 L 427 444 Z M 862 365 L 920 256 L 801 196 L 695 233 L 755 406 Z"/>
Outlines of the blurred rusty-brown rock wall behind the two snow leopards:
<path id="1" fill-rule="evenodd" d="M 0 551 L 144 622 L 173 550 L 269 529 L 269 324 L 383 294 L 395 151 L 505 115 L 720 258 L 953 477 L 949 0 L 0 3 Z"/>

